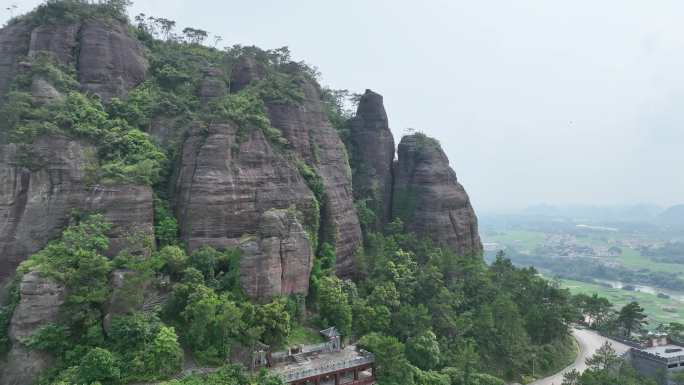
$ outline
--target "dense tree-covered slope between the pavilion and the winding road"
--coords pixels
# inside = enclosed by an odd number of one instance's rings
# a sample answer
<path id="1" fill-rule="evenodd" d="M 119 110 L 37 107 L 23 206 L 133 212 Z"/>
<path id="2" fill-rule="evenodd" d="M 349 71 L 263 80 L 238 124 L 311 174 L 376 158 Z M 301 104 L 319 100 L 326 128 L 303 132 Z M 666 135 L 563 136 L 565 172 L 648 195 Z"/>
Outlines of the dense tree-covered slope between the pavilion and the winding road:
<path id="1" fill-rule="evenodd" d="M 334 298 L 346 294 L 354 334 L 379 354 L 381 384 L 461 383 L 482 373 L 521 379 L 532 372 L 530 352 L 537 368 L 566 363 L 575 307 L 534 270 L 503 258 L 488 268 L 400 230 L 367 238 L 367 276 Z M 339 314 L 333 321 L 343 324 L 346 310 Z"/>

